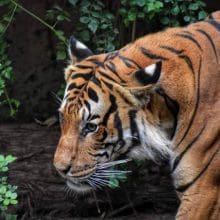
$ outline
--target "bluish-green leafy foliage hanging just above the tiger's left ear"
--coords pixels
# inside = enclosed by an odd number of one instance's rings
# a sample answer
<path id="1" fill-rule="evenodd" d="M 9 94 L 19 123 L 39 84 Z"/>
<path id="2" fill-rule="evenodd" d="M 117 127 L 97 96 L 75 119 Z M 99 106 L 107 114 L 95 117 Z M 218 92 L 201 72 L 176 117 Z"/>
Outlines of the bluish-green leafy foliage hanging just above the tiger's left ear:
<path id="1" fill-rule="evenodd" d="M 79 8 L 77 37 L 98 53 L 115 50 L 118 46 L 118 29 L 114 24 L 115 16 L 107 9 L 107 5 L 100 0 L 69 0 L 69 3 Z"/>

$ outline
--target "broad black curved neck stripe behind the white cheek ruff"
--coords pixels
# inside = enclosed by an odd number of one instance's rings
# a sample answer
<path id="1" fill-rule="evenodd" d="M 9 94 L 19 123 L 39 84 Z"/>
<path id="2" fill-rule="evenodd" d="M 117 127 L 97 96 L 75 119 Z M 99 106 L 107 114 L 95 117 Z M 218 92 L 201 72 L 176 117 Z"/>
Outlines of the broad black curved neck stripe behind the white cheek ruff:
<path id="1" fill-rule="evenodd" d="M 169 109 L 169 111 L 172 113 L 174 117 L 174 126 L 173 126 L 173 130 L 171 134 L 171 139 L 172 139 L 176 132 L 177 118 L 179 114 L 179 104 L 176 100 L 171 99 L 162 88 L 157 89 L 156 92 L 164 98 L 167 108 Z"/>

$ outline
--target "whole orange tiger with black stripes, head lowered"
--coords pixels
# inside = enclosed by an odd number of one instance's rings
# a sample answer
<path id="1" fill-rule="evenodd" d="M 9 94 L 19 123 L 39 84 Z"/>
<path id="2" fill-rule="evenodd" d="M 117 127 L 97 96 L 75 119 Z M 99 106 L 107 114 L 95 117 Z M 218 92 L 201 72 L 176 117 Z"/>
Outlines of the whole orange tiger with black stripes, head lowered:
<path id="1" fill-rule="evenodd" d="M 89 192 L 129 158 L 167 159 L 176 219 L 219 219 L 220 11 L 98 55 L 72 36 L 69 54 L 53 162 L 67 185 Z"/>

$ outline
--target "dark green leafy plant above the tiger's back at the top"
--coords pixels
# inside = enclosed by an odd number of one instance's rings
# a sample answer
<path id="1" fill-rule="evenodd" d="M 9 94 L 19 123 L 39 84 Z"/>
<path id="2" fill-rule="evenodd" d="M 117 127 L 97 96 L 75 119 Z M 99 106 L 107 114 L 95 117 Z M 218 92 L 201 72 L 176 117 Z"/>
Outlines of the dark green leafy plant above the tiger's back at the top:
<path id="1" fill-rule="evenodd" d="M 126 27 L 132 26 L 131 39 L 136 36 L 139 21 L 158 21 L 160 29 L 204 19 L 207 14 L 203 1 L 183 0 L 121 0 L 119 13 Z"/>

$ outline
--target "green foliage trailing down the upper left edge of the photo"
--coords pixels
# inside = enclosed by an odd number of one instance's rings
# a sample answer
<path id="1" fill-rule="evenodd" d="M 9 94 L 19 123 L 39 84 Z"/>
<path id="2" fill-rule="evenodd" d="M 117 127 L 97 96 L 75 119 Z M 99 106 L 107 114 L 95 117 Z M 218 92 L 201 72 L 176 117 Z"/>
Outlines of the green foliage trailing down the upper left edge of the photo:
<path id="1" fill-rule="evenodd" d="M 10 23 L 13 21 L 17 7 L 11 7 L 11 5 L 8 4 L 8 1 L 2 1 L 0 6 L 4 6 L 8 9 L 8 13 L 0 18 L 0 107 L 8 105 L 9 115 L 14 117 L 20 102 L 16 99 L 10 98 L 6 89 L 7 84 L 13 81 L 13 68 L 7 55 L 9 44 L 6 41 L 4 34 Z"/>

